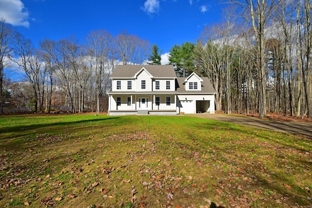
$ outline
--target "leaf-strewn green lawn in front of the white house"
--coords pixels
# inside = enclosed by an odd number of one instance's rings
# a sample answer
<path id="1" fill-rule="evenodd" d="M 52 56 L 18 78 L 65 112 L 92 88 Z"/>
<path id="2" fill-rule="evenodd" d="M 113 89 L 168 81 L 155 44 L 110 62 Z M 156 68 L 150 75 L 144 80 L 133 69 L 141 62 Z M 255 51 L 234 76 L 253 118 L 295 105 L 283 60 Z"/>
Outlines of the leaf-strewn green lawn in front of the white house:
<path id="1" fill-rule="evenodd" d="M 311 139 L 188 116 L 0 116 L 0 207 L 311 207 Z"/>

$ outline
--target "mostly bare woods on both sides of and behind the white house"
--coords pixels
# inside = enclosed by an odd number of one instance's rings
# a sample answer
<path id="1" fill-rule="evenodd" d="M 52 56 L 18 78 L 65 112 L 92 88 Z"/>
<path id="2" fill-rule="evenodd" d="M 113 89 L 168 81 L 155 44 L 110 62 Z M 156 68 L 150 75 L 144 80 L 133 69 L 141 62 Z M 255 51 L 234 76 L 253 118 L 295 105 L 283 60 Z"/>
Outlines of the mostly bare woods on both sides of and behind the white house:
<path id="1" fill-rule="evenodd" d="M 170 50 L 176 74 L 208 76 L 217 111 L 312 118 L 311 0 L 222 3 L 222 22 L 207 25 L 196 43 Z M 109 75 L 117 64 L 160 64 L 156 44 L 152 50 L 149 40 L 126 31 L 116 37 L 92 31 L 80 42 L 75 36 L 44 39 L 35 48 L 4 19 L 0 28 L 1 113 L 17 106 L 105 112 Z M 16 81 L 6 69 L 21 70 L 24 80 Z"/>

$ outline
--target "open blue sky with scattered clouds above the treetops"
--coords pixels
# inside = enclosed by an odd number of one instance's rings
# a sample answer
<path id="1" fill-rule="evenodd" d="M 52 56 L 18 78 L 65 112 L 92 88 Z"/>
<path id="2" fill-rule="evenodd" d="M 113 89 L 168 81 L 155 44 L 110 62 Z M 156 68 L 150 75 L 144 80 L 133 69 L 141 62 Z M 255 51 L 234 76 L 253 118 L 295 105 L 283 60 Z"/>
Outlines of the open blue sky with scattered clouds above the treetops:
<path id="1" fill-rule="evenodd" d="M 75 35 L 83 43 L 93 30 L 113 36 L 126 30 L 165 54 L 175 44 L 195 43 L 220 16 L 218 0 L 0 0 L 0 17 L 35 46 L 44 38 Z"/>

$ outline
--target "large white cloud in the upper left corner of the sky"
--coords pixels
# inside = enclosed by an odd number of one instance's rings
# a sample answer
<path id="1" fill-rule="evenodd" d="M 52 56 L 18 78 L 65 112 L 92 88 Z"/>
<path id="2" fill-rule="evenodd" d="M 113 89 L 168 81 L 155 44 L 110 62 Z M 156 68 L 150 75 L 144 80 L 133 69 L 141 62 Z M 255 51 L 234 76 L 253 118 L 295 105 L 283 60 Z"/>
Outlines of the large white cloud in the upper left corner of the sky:
<path id="1" fill-rule="evenodd" d="M 21 0 L 0 0 L 0 18 L 14 26 L 29 26 L 29 13 Z"/>

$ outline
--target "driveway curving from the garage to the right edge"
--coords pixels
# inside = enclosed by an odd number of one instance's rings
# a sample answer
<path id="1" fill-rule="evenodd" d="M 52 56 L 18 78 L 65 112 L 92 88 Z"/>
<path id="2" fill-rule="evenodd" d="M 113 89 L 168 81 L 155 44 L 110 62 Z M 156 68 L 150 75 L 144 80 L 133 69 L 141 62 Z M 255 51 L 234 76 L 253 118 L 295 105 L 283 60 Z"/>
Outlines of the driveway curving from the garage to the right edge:
<path id="1" fill-rule="evenodd" d="M 304 135 L 312 138 L 312 123 L 293 122 L 293 121 L 272 121 L 267 118 L 251 117 L 251 116 L 235 116 L 228 114 L 186 114 L 186 116 L 194 116 L 217 121 L 231 122 L 255 128 L 263 128 L 279 132 L 287 132 L 298 135 Z"/>

